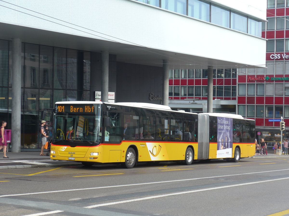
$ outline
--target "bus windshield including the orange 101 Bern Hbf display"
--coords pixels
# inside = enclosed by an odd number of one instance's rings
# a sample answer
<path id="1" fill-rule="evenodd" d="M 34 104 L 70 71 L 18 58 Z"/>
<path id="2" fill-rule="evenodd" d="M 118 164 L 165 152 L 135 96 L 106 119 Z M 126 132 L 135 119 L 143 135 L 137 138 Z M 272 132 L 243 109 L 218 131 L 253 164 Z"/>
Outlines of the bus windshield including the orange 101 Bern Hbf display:
<path id="1" fill-rule="evenodd" d="M 89 109 L 82 105 L 57 104 L 56 109 L 58 112 L 55 115 L 53 128 L 54 143 L 80 141 L 81 145 L 82 143 L 91 145 L 101 142 L 102 117 L 99 104 L 90 105 Z"/>

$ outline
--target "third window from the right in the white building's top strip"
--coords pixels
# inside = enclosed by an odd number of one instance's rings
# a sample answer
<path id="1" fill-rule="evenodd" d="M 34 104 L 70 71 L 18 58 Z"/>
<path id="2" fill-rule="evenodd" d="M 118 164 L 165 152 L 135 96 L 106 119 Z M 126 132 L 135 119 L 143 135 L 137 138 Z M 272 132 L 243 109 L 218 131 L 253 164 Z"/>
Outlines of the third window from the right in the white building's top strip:
<path id="1" fill-rule="evenodd" d="M 211 6 L 211 22 L 229 28 L 230 12 L 218 6 Z M 246 21 L 247 23 L 247 21 Z"/>

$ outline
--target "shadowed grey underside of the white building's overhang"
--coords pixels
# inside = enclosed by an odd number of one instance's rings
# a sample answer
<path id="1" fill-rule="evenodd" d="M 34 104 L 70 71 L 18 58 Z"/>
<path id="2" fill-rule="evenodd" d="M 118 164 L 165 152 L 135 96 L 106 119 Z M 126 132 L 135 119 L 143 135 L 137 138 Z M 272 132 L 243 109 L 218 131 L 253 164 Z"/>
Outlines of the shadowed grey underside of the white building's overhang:
<path id="1" fill-rule="evenodd" d="M 162 67 L 163 60 L 169 60 L 170 69 L 207 69 L 210 65 L 214 69 L 243 68 L 246 66 L 246 64 L 240 62 L 229 62 L 205 56 L 193 56 L 185 53 L 158 50 L 1 22 L 0 29 L 1 39 L 12 40 L 12 38 L 20 38 L 25 43 L 36 43 L 91 52 L 109 51 L 110 54 L 117 56 L 118 62 Z M 248 68 L 255 67 L 258 66 L 248 65 Z M 260 67 L 264 67 L 264 65 L 260 65 Z"/>

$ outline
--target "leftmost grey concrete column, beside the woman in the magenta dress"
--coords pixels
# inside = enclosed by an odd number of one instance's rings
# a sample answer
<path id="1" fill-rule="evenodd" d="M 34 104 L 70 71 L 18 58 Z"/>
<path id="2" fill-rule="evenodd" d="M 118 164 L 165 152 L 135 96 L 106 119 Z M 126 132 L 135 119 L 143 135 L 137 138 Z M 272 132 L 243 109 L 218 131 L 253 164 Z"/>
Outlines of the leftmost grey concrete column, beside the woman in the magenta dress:
<path id="1" fill-rule="evenodd" d="M 12 152 L 20 152 L 21 144 L 21 39 L 12 39 Z"/>

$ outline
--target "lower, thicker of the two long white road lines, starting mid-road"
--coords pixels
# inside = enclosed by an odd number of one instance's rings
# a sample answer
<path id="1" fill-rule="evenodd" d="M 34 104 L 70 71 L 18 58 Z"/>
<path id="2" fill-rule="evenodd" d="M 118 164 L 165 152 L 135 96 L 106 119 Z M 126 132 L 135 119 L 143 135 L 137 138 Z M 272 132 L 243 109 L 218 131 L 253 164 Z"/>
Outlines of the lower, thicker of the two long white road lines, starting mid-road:
<path id="1" fill-rule="evenodd" d="M 191 191 L 184 191 L 184 192 L 178 192 L 178 193 L 172 193 L 172 194 L 163 194 L 163 195 L 158 195 L 158 196 L 148 196 L 148 197 L 132 199 L 132 200 L 123 200 L 123 201 L 119 201 L 119 202 L 109 202 L 109 203 L 97 204 L 97 205 L 92 205 L 92 206 L 86 206 L 84 208 L 91 209 L 91 208 L 96 208 L 96 207 L 100 207 L 100 206 L 108 206 L 108 205 L 115 205 L 115 204 L 126 203 L 126 202 L 149 200 L 149 199 L 154 199 L 154 198 L 162 198 L 162 197 L 166 197 L 166 196 L 188 194 L 188 193 L 207 191 L 207 190 L 215 190 L 215 189 L 226 188 L 226 187 L 236 187 L 236 186 L 242 186 L 242 185 L 251 185 L 251 184 L 257 184 L 257 183 L 263 183 L 263 182 L 269 182 L 269 181 L 278 181 L 278 180 L 283 180 L 283 179 L 289 179 L 289 177 L 281 178 L 281 179 L 271 179 L 271 180 L 266 180 L 266 181 L 255 181 L 255 182 L 243 183 L 243 184 L 237 184 L 237 185 L 226 185 L 226 186 L 221 186 L 221 187 L 211 187 L 211 188 L 205 188 L 205 189 L 200 189 L 200 190 L 191 190 Z"/>

